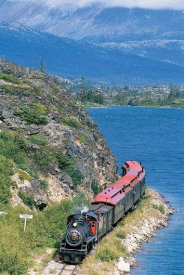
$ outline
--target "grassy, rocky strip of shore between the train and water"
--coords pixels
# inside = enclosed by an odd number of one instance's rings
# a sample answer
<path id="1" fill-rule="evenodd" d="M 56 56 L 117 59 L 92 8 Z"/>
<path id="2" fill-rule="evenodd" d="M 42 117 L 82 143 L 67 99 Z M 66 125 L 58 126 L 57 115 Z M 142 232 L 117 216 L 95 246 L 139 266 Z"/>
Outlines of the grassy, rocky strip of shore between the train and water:
<path id="1" fill-rule="evenodd" d="M 146 195 L 137 203 L 135 210 L 129 212 L 113 231 L 96 245 L 88 260 L 78 267 L 77 272 L 88 275 L 130 275 L 131 268 L 138 267 L 134 254 L 142 250 L 142 243 L 150 241 L 152 236 L 157 236 L 158 229 L 168 225 L 170 215 L 174 212 L 174 208 L 168 205 L 161 194 L 147 187 Z M 113 256 L 117 254 L 117 249 L 118 257 Z M 103 258 L 99 257 L 100 254 L 109 261 L 99 261 Z"/>

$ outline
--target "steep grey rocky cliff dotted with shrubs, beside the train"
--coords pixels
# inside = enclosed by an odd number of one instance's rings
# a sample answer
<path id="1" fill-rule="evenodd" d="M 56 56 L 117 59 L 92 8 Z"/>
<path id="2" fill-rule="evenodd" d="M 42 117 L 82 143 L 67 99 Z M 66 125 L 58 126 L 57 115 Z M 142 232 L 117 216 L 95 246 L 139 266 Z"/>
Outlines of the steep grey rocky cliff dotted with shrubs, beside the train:
<path id="1" fill-rule="evenodd" d="M 30 195 L 42 209 L 76 192 L 92 197 L 105 181 L 115 181 L 106 140 L 56 77 L 1 59 L 0 96 L 0 140 L 10 143 L 4 157 L 12 160 L 14 205 Z"/>

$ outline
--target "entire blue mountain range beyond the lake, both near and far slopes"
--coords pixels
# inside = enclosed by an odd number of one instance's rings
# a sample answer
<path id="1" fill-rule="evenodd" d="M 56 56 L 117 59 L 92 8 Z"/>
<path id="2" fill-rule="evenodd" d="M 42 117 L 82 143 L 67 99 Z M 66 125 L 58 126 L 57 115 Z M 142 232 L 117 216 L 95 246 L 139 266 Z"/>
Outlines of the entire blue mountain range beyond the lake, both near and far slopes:
<path id="1" fill-rule="evenodd" d="M 38 68 L 44 52 L 47 71 L 68 78 L 84 75 L 108 85 L 183 84 L 180 10 L 102 3 L 69 9 L 0 0 L 0 20 L 0 55 L 21 65 Z"/>

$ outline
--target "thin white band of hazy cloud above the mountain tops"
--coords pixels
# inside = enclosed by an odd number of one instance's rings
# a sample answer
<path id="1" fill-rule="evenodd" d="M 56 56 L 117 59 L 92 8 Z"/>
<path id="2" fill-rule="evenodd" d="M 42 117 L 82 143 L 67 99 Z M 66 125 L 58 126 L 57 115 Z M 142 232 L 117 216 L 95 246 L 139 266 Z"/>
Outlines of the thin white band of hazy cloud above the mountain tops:
<path id="1" fill-rule="evenodd" d="M 23 1 L 23 0 L 22 0 Z M 96 0 L 45 0 L 49 5 L 77 5 L 84 6 L 89 3 L 95 3 Z M 101 0 L 99 2 L 105 5 L 115 7 L 122 6 L 127 8 L 151 8 L 151 9 L 163 9 L 170 8 L 176 10 L 184 10 L 184 0 Z"/>

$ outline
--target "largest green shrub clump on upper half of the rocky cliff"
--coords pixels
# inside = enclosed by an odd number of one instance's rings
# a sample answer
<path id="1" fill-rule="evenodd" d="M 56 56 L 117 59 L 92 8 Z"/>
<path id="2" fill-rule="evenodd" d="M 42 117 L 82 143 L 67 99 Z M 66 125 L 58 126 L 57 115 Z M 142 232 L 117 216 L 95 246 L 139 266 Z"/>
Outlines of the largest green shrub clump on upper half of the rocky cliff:
<path id="1" fill-rule="evenodd" d="M 46 110 L 47 108 L 41 104 L 32 104 L 30 107 L 22 106 L 20 109 L 14 111 L 14 114 L 18 115 L 28 124 L 47 124 Z"/>

